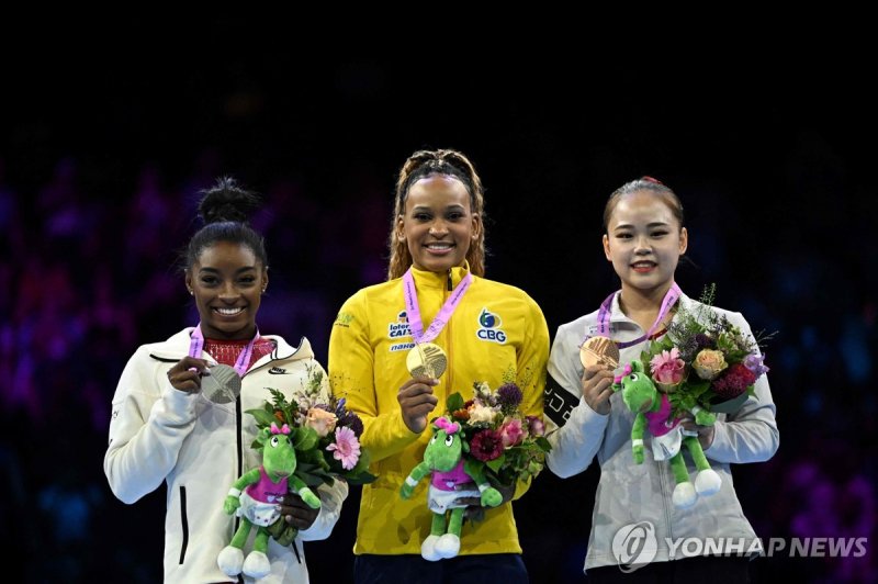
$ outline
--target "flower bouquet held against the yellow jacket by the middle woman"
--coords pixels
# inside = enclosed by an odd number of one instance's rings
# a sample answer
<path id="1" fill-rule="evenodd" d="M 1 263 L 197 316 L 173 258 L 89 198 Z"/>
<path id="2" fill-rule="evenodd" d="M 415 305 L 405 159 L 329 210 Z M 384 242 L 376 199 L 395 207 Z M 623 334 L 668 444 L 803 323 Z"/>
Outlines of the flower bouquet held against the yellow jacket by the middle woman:
<path id="1" fill-rule="evenodd" d="M 551 449 L 542 419 L 525 416 L 521 398 L 515 383 L 492 390 L 483 381 L 473 384 L 468 402 L 460 393 L 448 397 L 446 416 L 461 425 L 461 439 L 469 445 L 468 469 L 483 472 L 493 485 L 510 486 L 536 476 Z"/>

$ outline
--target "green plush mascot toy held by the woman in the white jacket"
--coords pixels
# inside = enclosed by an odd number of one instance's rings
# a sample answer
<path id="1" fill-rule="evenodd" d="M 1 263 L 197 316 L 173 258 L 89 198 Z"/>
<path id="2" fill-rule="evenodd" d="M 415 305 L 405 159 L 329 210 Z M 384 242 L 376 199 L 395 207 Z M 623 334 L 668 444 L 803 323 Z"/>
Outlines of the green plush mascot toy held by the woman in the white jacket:
<path id="1" fill-rule="evenodd" d="M 225 499 L 223 509 L 232 515 L 237 513 L 240 526 L 226 546 L 216 563 L 227 576 L 244 574 L 260 579 L 271 571 L 268 551 L 268 526 L 280 517 L 280 504 L 288 488 L 292 486 L 311 508 L 320 506 L 320 499 L 305 483 L 293 475 L 296 467 L 295 449 L 290 442 L 290 427 L 284 424 L 278 428 L 271 424 L 257 436 L 262 445 L 262 465 L 251 469 L 241 475 Z M 241 492 L 243 491 L 243 492 Z M 244 543 L 250 535 L 252 526 L 259 526 L 254 540 L 254 549 L 244 560 Z"/>

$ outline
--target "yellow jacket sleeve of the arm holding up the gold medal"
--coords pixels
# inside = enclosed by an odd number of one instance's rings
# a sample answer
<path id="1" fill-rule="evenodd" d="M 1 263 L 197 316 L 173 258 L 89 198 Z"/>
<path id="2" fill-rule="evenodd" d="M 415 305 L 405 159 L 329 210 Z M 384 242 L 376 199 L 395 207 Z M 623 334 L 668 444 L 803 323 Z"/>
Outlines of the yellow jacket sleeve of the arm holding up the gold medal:
<path id="1" fill-rule="evenodd" d="M 375 353 L 369 333 L 369 306 L 364 291 L 351 296 L 338 313 L 329 336 L 329 380 L 336 397 L 363 422 L 360 442 L 372 462 L 399 452 L 418 439 L 403 422 L 399 408 L 380 412 L 375 388 Z"/>

